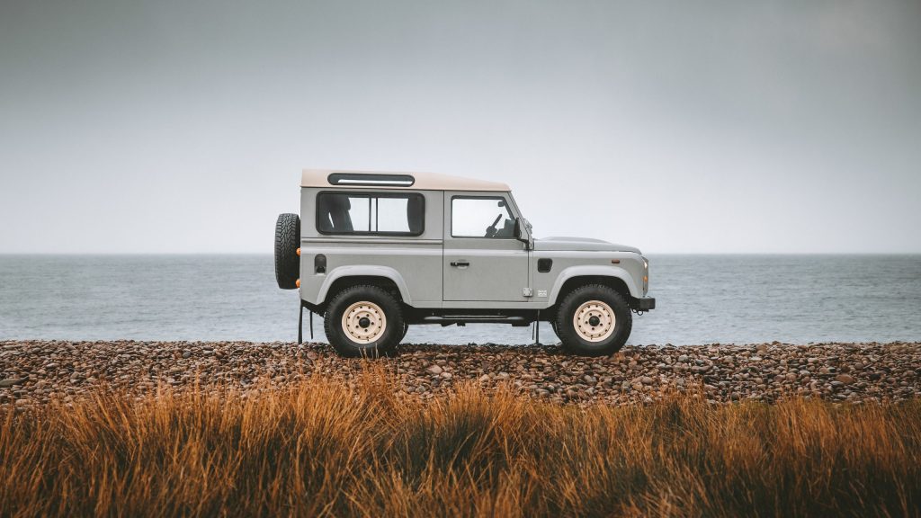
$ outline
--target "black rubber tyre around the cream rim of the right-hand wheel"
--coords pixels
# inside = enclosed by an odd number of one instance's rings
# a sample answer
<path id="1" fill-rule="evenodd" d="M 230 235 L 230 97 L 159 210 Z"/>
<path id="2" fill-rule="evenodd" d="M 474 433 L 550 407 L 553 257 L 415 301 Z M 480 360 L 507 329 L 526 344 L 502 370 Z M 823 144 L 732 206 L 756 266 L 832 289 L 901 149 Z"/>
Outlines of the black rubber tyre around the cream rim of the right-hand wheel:
<path id="1" fill-rule="evenodd" d="M 607 304 L 614 314 L 611 334 L 599 341 L 590 341 L 580 336 L 574 323 L 579 307 L 591 300 L 599 300 Z M 602 327 L 603 324 L 599 326 L 599 329 Z M 560 337 L 564 347 L 580 356 L 607 356 L 621 350 L 632 328 L 633 315 L 624 297 L 612 288 L 600 284 L 589 284 L 575 289 L 565 296 L 556 313 L 557 336 Z"/>

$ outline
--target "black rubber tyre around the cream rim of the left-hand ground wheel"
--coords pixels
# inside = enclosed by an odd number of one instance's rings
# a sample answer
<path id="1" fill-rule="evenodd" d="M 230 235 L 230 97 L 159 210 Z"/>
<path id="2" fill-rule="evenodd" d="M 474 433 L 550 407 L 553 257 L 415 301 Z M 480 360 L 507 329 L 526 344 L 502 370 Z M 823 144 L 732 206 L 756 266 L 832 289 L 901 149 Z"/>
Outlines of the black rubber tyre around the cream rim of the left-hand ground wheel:
<path id="1" fill-rule="evenodd" d="M 374 341 L 362 343 L 347 334 L 343 329 L 343 316 L 350 307 L 362 302 L 368 303 L 366 308 L 376 305 L 383 313 L 383 322 L 381 334 Z M 359 306 L 356 314 L 363 314 L 366 310 Z M 379 318 L 376 309 L 367 310 L 375 313 L 375 318 Z M 360 320 L 360 319 L 359 319 Z M 378 321 L 379 322 L 379 321 Z M 356 333 L 364 332 L 375 324 L 367 324 L 362 328 L 356 327 Z M 337 293 L 326 308 L 325 319 L 323 320 L 323 330 L 326 332 L 326 339 L 330 341 L 332 348 L 340 355 L 347 358 L 379 358 L 391 356 L 396 351 L 397 344 L 400 343 L 406 326 L 403 322 L 400 302 L 383 288 L 377 286 L 353 286 L 345 288 Z"/>

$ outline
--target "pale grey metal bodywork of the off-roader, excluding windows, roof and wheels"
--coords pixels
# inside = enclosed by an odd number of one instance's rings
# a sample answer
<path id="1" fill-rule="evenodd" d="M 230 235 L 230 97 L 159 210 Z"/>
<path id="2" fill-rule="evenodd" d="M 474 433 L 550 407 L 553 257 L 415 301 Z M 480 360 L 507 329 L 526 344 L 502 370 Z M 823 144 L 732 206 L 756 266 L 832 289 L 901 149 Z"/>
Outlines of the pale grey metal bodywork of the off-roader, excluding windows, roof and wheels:
<path id="1" fill-rule="evenodd" d="M 520 216 L 518 206 L 509 193 L 407 189 L 407 192 L 423 194 L 426 200 L 426 222 L 422 235 L 322 235 L 316 228 L 316 194 L 334 190 L 336 189 L 301 190 L 300 296 L 310 303 L 321 304 L 326 301 L 331 295 L 328 290 L 332 283 L 337 278 L 346 276 L 389 278 L 400 289 L 402 299 L 407 304 L 426 309 L 542 310 L 558 301 L 560 288 L 567 279 L 579 276 L 617 277 L 624 281 L 631 296 L 643 296 L 641 291 L 645 270 L 642 259 L 635 253 L 560 250 L 528 252 L 524 250 L 524 244 L 520 241 L 450 238 L 451 195 L 504 196 L 510 203 L 513 214 Z M 455 246 L 457 242 L 462 243 L 461 247 Z M 318 254 L 326 256 L 325 273 L 315 271 L 314 259 Z M 478 265 L 481 260 L 490 256 L 498 261 L 495 267 L 485 269 L 482 275 L 468 276 L 464 281 L 474 289 L 483 289 L 489 293 L 477 295 L 478 300 L 446 300 L 448 297 L 445 296 L 443 286 L 446 282 L 445 270 L 450 267 L 449 262 L 467 259 L 471 265 Z M 506 259 L 502 259 L 503 257 Z M 550 272 L 537 272 L 537 260 L 542 258 L 553 260 Z M 617 261 L 617 264 L 612 264 L 612 261 Z M 524 270 L 521 275 L 517 273 L 519 265 Z M 513 268 L 514 271 L 507 271 L 509 268 Z M 478 272 L 468 269 L 466 273 Z M 508 277 L 515 277 L 516 287 L 514 298 L 510 300 L 505 294 L 511 293 L 509 287 L 503 288 L 502 295 L 491 292 L 492 288 L 497 288 L 499 282 L 506 282 Z M 533 297 L 522 296 L 521 288 L 525 287 L 532 288 Z"/>

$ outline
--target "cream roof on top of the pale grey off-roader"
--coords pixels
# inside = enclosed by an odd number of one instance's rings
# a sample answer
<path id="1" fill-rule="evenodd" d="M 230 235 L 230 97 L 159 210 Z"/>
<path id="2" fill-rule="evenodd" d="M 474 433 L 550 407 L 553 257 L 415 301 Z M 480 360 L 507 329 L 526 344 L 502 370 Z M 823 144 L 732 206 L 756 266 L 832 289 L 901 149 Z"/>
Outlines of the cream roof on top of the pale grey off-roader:
<path id="1" fill-rule="evenodd" d="M 330 175 L 340 173 L 343 175 L 355 174 L 369 181 L 373 177 L 380 176 L 411 176 L 413 177 L 412 185 L 400 185 L 386 183 L 374 184 L 357 182 L 354 185 L 343 183 L 331 183 Z M 487 182 L 485 180 L 473 180 L 471 178 L 462 178 L 460 176 L 450 176 L 449 174 L 440 174 L 437 172 L 393 172 L 393 171 L 342 171 L 342 170 L 324 170 L 324 169 L 305 169 L 300 177 L 301 187 L 335 187 L 337 189 L 411 189 L 416 191 L 511 191 L 508 185 L 502 182 Z"/>

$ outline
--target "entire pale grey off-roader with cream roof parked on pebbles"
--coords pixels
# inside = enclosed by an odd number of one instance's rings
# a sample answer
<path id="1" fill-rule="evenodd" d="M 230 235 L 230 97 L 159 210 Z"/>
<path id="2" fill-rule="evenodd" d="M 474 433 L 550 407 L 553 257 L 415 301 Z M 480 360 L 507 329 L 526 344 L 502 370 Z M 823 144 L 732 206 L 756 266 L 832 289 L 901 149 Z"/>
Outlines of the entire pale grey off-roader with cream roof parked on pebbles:
<path id="1" fill-rule="evenodd" d="M 347 356 L 391 352 L 411 324 L 549 322 L 586 355 L 624 345 L 647 297 L 630 246 L 534 239 L 504 183 L 434 173 L 304 171 L 275 273 Z"/>

